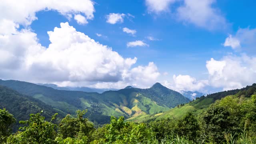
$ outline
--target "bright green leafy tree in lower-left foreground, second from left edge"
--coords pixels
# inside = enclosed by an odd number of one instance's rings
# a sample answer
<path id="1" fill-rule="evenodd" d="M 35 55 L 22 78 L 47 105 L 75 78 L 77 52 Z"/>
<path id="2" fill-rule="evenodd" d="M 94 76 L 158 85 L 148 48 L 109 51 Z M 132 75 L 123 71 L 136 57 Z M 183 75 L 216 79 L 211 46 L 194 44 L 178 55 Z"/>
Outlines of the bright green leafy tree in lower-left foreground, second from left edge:
<path id="1" fill-rule="evenodd" d="M 56 124 L 52 123 L 57 114 L 52 116 L 50 122 L 45 121 L 42 112 L 30 114 L 30 119 L 20 121 L 21 124 L 27 125 L 20 127 L 21 132 L 10 136 L 7 144 L 54 144 L 56 137 Z"/>

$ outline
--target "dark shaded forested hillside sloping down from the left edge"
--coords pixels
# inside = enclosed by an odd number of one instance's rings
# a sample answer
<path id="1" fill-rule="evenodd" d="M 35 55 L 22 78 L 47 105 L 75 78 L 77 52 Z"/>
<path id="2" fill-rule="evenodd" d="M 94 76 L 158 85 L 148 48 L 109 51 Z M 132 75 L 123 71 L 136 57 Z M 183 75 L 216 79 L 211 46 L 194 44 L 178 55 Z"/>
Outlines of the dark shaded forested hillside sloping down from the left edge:
<path id="1" fill-rule="evenodd" d="M 0 86 L 0 108 L 6 108 L 16 118 L 14 131 L 21 126 L 20 120 L 28 120 L 30 114 L 38 113 L 41 110 L 43 110 L 43 116 L 46 117 L 46 120 L 50 120 L 55 113 L 58 113 L 58 118 L 66 116 L 65 113 L 55 110 L 52 106 L 36 98 L 25 96 L 5 86 Z"/>

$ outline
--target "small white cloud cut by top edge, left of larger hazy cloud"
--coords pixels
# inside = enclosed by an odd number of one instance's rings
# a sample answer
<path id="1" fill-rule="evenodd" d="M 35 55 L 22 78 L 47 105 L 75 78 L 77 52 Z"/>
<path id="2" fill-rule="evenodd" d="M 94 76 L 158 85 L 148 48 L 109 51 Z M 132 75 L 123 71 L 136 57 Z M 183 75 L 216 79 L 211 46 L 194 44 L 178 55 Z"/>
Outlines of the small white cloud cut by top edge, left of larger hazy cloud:
<path id="1" fill-rule="evenodd" d="M 176 0 L 146 0 L 146 6 L 148 12 L 163 12 L 169 10 L 170 4 L 174 3 Z"/>

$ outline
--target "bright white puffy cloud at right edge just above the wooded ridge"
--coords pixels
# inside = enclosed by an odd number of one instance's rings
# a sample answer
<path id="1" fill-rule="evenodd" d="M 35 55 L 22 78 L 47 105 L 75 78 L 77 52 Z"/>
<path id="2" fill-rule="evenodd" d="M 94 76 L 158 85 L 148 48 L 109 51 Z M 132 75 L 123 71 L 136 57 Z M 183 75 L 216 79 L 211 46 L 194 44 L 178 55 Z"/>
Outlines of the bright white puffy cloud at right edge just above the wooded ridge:
<path id="1" fill-rule="evenodd" d="M 225 56 L 206 62 L 211 86 L 231 90 L 256 82 L 256 58 L 247 55 Z"/>

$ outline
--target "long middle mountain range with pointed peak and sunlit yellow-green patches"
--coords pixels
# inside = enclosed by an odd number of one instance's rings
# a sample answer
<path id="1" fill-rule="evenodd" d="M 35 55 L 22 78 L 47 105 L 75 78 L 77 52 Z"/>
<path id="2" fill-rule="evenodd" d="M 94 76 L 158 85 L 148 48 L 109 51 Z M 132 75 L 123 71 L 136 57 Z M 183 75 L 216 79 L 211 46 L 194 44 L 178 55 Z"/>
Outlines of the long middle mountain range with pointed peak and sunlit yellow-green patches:
<path id="1" fill-rule="evenodd" d="M 88 109 L 86 117 L 92 122 L 105 124 L 110 116 L 125 118 L 157 114 L 184 104 L 190 100 L 159 83 L 151 88 L 126 88 L 97 92 L 56 90 L 47 86 L 17 80 L 0 80 L 0 85 L 12 88 L 21 94 L 41 100 L 55 110 L 74 115 L 78 109 Z"/>

